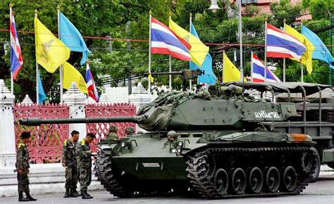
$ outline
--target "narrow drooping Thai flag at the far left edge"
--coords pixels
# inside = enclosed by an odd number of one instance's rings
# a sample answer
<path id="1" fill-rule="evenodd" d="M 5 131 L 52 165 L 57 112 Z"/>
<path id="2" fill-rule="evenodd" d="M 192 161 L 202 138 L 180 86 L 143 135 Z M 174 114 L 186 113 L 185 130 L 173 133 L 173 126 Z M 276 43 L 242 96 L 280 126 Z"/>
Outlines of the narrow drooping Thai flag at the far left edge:
<path id="1" fill-rule="evenodd" d="M 10 13 L 9 21 L 9 30 L 11 33 L 11 73 L 13 75 L 13 79 L 16 79 L 18 77 L 18 72 L 22 68 L 23 58 L 20 43 L 18 42 L 18 32 L 16 32 L 14 15 L 12 12 Z"/>

